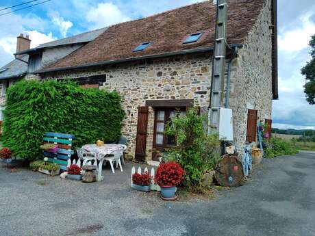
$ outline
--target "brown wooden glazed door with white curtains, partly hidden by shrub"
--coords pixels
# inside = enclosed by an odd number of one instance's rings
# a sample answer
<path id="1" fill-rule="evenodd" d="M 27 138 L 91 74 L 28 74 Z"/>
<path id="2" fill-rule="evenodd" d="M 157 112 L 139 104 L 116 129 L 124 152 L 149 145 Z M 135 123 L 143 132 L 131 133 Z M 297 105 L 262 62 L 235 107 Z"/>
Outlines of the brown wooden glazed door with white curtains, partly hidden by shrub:
<path id="1" fill-rule="evenodd" d="M 166 148 L 171 148 L 175 145 L 175 137 L 165 135 L 164 131 L 166 124 L 176 115 L 176 112 L 180 112 L 181 115 L 185 115 L 186 108 L 155 108 L 152 153 L 152 159 L 155 161 L 159 160 L 160 155 L 166 150 Z"/>

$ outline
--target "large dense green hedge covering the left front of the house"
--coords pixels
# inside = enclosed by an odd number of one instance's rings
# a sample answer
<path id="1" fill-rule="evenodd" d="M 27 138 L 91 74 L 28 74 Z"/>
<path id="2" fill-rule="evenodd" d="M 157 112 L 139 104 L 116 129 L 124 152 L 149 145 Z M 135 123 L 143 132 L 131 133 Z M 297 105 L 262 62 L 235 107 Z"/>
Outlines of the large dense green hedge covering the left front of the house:
<path id="1" fill-rule="evenodd" d="M 84 89 L 71 81 L 20 81 L 8 88 L 3 146 L 36 159 L 45 132 L 75 135 L 73 146 L 118 140 L 125 112 L 117 92 Z"/>

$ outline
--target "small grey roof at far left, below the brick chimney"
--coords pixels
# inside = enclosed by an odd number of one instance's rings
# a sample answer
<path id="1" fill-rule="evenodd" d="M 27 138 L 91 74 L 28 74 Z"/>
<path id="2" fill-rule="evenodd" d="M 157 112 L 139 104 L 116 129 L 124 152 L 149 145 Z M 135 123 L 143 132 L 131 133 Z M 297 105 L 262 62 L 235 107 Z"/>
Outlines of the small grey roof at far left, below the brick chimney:
<path id="1" fill-rule="evenodd" d="M 23 55 L 20 57 L 23 61 L 28 61 L 29 55 Z M 6 69 L 0 73 L 0 79 L 7 79 L 12 77 L 21 77 L 27 72 L 27 64 L 21 62 L 20 60 L 14 59 L 12 62 L 9 62 L 5 66 L 2 66 L 1 69 Z"/>

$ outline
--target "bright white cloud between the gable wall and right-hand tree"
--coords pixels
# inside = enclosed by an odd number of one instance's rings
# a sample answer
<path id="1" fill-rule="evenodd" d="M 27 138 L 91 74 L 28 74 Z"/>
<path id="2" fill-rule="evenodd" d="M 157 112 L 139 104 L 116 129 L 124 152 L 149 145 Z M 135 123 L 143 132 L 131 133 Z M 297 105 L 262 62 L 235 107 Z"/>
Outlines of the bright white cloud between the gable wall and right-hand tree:
<path id="1" fill-rule="evenodd" d="M 301 18 L 301 27 L 279 34 L 279 50 L 286 52 L 300 51 L 308 47 L 311 36 L 315 33 L 315 25 L 310 20 L 311 14 Z"/>

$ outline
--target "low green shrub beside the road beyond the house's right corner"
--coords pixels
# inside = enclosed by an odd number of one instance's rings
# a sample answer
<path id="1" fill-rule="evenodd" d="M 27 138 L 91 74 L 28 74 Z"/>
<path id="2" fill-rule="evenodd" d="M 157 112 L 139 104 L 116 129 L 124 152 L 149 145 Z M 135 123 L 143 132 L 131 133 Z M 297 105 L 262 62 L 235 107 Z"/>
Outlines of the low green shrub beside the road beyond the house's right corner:
<path id="1" fill-rule="evenodd" d="M 266 158 L 295 154 L 297 154 L 297 149 L 290 142 L 286 142 L 280 137 L 271 137 L 270 144 L 264 149 Z"/>

